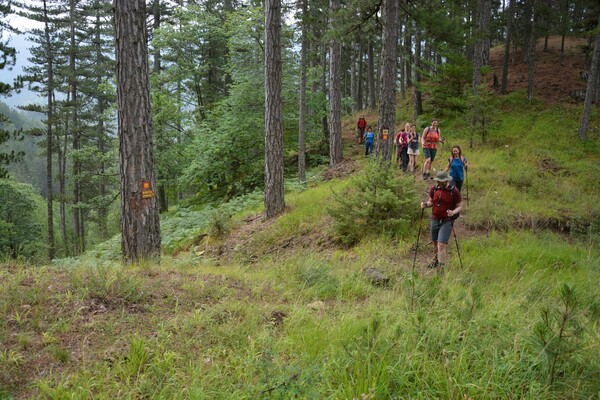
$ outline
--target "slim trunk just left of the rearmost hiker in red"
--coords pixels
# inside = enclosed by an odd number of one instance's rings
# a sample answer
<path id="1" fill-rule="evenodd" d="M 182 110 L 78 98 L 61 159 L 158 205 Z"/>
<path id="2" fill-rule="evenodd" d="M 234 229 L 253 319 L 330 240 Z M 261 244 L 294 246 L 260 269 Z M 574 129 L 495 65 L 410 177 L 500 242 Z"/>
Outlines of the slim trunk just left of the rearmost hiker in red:
<path id="1" fill-rule="evenodd" d="M 340 0 L 329 0 L 329 8 L 335 14 Z M 336 18 L 332 18 L 335 26 Z M 342 96 L 341 85 L 342 45 L 337 38 L 329 43 L 329 166 L 342 161 Z"/>

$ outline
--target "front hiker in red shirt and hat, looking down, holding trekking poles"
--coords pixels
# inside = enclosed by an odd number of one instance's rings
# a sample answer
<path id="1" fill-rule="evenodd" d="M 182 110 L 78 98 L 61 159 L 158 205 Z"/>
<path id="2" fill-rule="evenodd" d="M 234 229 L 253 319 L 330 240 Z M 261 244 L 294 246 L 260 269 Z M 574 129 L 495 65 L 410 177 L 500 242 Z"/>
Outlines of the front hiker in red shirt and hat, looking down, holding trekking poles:
<path id="1" fill-rule="evenodd" d="M 443 268 L 446 263 L 446 247 L 452 233 L 454 220 L 462 209 L 460 191 L 452 184 L 452 177 L 440 171 L 433 178 L 436 184 L 429 190 L 429 198 L 421 202 L 421 208 L 433 207 L 431 211 L 431 240 L 435 251 L 428 268 Z"/>

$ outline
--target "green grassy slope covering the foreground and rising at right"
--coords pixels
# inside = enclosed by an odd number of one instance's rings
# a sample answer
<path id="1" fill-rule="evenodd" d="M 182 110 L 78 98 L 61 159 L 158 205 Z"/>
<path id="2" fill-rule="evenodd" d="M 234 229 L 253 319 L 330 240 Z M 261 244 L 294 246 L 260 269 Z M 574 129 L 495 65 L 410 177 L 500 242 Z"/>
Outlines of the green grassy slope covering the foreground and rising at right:
<path id="1" fill-rule="evenodd" d="M 463 269 L 451 243 L 444 275 L 422 267 L 425 246 L 412 274 L 416 225 L 395 242 L 336 246 L 324 205 L 347 179 L 289 193 L 274 222 L 230 208 L 231 234 L 196 246 L 193 226 L 177 233 L 193 218 L 180 210 L 166 222 L 180 252 L 161 266 L 0 267 L 0 398 L 596 396 L 600 119 L 580 143 L 579 107 L 521 98 L 495 105 L 488 142 L 465 151 Z M 442 121 L 463 149 L 467 128 Z M 391 284 L 369 284 L 367 266 Z M 582 331 L 560 344 L 549 385 L 556 344 L 544 348 L 535 327 L 543 309 L 561 310 L 565 284 L 578 300 L 569 334 Z"/>

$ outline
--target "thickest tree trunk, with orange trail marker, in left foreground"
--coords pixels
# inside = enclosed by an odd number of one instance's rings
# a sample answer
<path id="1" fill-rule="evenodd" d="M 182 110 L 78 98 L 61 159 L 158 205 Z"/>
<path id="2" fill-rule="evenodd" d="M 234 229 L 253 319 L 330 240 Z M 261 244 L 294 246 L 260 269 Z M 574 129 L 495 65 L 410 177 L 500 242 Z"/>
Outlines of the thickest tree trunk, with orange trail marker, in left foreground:
<path id="1" fill-rule="evenodd" d="M 121 174 L 121 250 L 126 263 L 160 258 L 144 0 L 114 0 Z"/>

